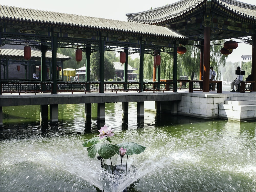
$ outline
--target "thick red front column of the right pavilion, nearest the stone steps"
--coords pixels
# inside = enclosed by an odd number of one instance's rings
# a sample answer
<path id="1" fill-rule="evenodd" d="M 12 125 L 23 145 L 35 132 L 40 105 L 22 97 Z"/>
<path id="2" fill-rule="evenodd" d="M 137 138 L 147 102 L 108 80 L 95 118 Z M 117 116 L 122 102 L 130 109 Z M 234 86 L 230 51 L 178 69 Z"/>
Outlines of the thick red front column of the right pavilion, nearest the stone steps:
<path id="1" fill-rule="evenodd" d="M 211 27 L 205 26 L 204 31 L 204 81 L 203 81 L 203 92 L 209 93 L 209 73 L 210 73 L 210 36 Z"/>

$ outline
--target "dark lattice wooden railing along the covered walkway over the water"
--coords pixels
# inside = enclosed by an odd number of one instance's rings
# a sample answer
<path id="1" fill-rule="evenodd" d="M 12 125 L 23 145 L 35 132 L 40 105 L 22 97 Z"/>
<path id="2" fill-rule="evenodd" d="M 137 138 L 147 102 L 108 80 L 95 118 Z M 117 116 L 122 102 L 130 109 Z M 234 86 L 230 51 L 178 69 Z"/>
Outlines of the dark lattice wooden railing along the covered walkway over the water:
<path id="1" fill-rule="evenodd" d="M 0 94 L 3 93 L 52 93 L 52 81 L 1 81 Z M 57 92 L 100 92 L 99 81 L 57 81 Z M 140 92 L 143 91 L 173 91 L 173 82 L 123 82 L 104 81 L 104 92 Z"/>

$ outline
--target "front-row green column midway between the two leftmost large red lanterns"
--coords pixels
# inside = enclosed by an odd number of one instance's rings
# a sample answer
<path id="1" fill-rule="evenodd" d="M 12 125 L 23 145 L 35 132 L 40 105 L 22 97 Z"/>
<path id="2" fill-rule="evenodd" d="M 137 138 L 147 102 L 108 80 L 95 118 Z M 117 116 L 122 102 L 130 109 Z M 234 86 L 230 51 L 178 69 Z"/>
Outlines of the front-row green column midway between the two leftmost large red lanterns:
<path id="1" fill-rule="evenodd" d="M 57 33 L 53 33 L 52 37 L 52 93 L 57 94 L 57 49 L 58 49 L 58 37 Z"/>

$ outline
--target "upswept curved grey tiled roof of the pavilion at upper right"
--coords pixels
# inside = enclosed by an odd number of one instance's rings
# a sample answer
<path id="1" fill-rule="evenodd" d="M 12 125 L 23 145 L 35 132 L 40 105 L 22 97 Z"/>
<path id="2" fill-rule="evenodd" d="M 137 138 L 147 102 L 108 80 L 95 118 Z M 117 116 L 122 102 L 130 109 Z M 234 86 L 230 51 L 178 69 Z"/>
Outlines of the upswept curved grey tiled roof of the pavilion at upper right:
<path id="1" fill-rule="evenodd" d="M 163 7 L 139 12 L 139 13 L 127 13 L 128 21 L 145 23 L 145 24 L 157 24 L 164 22 L 165 20 L 174 19 L 194 9 L 196 6 L 202 3 L 206 3 L 208 0 L 181 0 Z M 226 10 L 233 12 L 241 17 L 250 18 L 256 20 L 255 12 L 256 6 L 242 3 L 235 0 L 211 0 L 221 5 Z"/>

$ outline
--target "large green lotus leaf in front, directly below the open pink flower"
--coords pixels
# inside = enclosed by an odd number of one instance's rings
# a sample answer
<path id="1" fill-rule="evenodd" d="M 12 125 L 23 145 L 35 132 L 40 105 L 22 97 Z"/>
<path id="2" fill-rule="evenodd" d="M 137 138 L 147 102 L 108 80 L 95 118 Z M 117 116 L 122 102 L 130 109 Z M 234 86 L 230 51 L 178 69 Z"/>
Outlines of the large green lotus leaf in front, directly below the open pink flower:
<path id="1" fill-rule="evenodd" d="M 109 159 L 116 153 L 119 153 L 119 147 L 117 145 L 109 143 L 96 143 L 87 148 L 88 156 L 94 158 L 98 153 L 102 158 Z"/>

